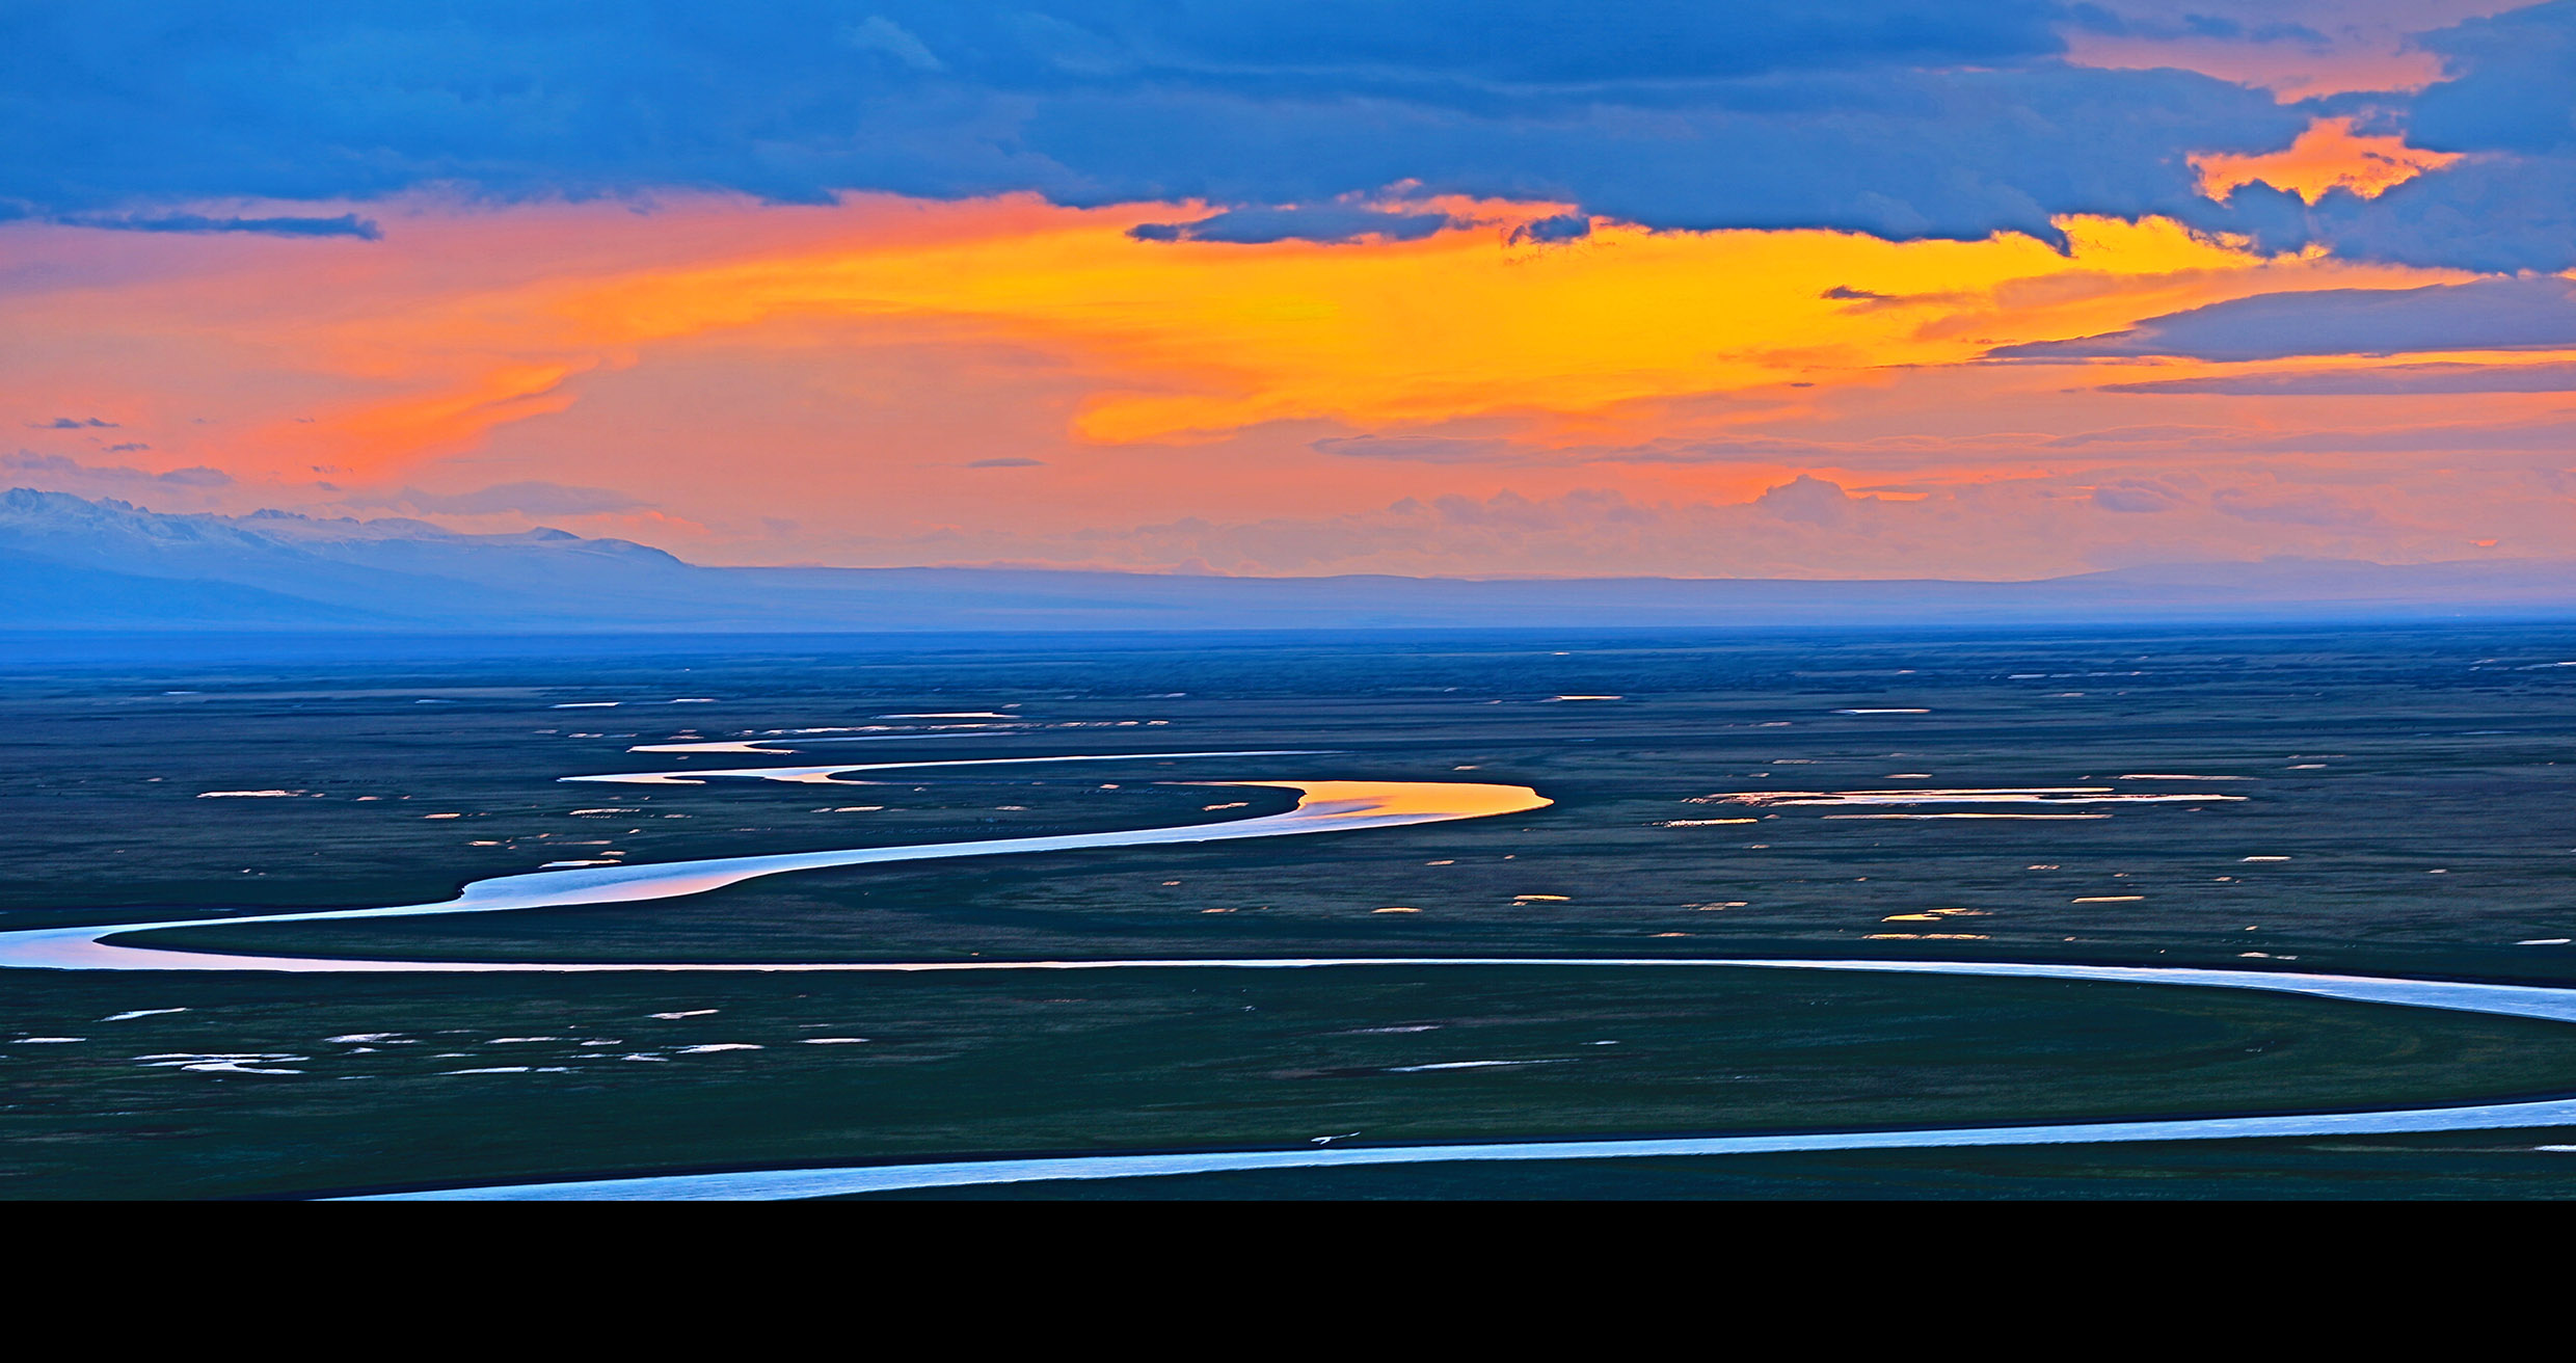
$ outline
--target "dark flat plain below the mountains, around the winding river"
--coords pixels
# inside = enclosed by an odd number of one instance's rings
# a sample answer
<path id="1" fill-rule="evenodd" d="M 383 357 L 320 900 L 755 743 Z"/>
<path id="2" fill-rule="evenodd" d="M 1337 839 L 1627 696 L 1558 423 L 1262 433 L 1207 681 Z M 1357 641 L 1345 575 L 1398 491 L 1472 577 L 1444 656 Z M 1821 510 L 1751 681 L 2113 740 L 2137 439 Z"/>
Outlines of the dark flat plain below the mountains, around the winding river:
<path id="1" fill-rule="evenodd" d="M 162 940 L 446 961 L 1922 956 L 2576 984 L 2571 626 L 121 649 L 0 652 L 13 737 L 0 928 L 399 904 L 549 861 L 1157 827 L 1288 804 L 1198 783 L 1224 778 L 1504 781 L 1556 804 Z M 969 711 L 1010 719 L 956 719 Z M 793 758 L 629 752 L 824 727 L 940 737 Z M 556 781 L 1203 750 L 1324 752 L 925 768 L 845 788 Z M 2025 786 L 2244 799 L 1708 799 Z M 2107 817 L 1860 817 L 1891 812 Z M 1615 966 L 0 977 L 0 1196 L 13 1198 L 2568 1092 L 2576 1028 L 2555 1023 L 2133 984 Z M 2576 1193 L 2576 1154 L 2545 1147 L 2576 1147 L 2576 1131 L 943 1196 Z"/>

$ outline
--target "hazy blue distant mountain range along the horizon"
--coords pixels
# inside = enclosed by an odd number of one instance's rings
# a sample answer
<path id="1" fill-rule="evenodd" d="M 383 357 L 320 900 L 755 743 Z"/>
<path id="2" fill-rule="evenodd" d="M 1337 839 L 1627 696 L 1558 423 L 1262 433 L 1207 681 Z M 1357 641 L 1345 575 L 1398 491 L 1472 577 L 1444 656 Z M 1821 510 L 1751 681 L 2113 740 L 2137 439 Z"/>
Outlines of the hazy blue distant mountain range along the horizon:
<path id="1" fill-rule="evenodd" d="M 564 531 L 0 492 L 0 631 L 1092 631 L 2576 618 L 2576 559 L 2164 564 L 2038 582 L 698 567 Z"/>

